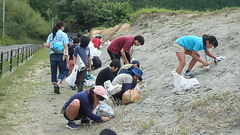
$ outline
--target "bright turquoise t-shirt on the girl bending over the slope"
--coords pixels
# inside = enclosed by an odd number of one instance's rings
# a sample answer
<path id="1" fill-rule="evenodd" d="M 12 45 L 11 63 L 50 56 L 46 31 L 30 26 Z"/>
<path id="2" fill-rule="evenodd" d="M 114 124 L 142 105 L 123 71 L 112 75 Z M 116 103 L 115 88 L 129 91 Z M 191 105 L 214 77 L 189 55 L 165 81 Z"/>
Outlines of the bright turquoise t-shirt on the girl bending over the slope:
<path id="1" fill-rule="evenodd" d="M 203 44 L 202 37 L 197 36 L 183 36 L 176 40 L 176 42 L 187 50 L 198 52 L 200 50 L 207 50 Z"/>

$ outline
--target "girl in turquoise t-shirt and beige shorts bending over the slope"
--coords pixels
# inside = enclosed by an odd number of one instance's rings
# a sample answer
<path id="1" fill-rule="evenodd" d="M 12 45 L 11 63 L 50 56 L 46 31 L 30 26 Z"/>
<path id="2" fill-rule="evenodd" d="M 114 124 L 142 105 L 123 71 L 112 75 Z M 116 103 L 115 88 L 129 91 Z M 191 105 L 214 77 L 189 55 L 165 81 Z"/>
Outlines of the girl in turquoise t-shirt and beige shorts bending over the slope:
<path id="1" fill-rule="evenodd" d="M 204 66 L 208 66 L 210 63 L 200 59 L 200 55 L 197 53 L 200 50 L 204 50 L 206 55 L 216 59 L 216 56 L 209 52 L 209 48 L 216 48 L 218 46 L 218 41 L 215 36 L 208 36 L 204 34 L 202 37 L 197 36 L 183 36 L 178 38 L 174 43 L 174 49 L 179 61 L 176 72 L 181 75 L 182 70 L 186 63 L 185 54 L 192 57 L 185 76 L 194 76 L 196 72 L 191 71 L 196 62 L 201 62 Z"/>

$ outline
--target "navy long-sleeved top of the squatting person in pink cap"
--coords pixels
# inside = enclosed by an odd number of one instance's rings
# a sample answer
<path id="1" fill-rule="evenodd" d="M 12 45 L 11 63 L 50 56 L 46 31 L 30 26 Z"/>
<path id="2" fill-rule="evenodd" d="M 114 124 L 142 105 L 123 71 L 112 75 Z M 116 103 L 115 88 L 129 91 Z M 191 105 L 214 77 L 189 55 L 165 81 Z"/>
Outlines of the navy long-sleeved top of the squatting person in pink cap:
<path id="1" fill-rule="evenodd" d="M 90 104 L 89 97 L 88 97 L 88 90 L 78 92 L 77 94 L 73 95 L 65 104 L 64 110 L 69 106 L 69 104 L 74 100 L 78 99 L 80 101 L 80 109 L 79 112 L 82 116 L 87 116 L 91 120 L 96 122 L 101 121 L 102 117 L 92 113 L 92 104 Z"/>

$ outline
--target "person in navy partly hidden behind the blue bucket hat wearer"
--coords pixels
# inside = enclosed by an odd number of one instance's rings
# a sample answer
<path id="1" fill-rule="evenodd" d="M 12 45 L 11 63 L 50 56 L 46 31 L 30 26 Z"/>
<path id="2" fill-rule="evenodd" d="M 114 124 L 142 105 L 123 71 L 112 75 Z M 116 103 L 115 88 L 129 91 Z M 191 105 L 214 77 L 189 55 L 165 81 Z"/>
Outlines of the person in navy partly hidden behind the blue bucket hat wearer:
<path id="1" fill-rule="evenodd" d="M 119 74 L 132 74 L 132 71 L 130 70 L 131 68 L 140 68 L 140 62 L 138 60 L 133 60 L 131 64 L 125 64 L 123 65 L 120 70 L 118 71 L 118 75 Z"/>

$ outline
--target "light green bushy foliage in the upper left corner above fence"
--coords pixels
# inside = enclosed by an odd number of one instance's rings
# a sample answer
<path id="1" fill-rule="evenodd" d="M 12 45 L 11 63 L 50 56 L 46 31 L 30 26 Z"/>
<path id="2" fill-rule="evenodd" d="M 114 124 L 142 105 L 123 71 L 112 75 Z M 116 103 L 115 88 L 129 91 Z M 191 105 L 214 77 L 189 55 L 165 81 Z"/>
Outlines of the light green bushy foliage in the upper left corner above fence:
<path id="1" fill-rule="evenodd" d="M 12 43 L 13 40 L 20 41 L 20 43 L 32 42 L 45 38 L 46 34 L 49 33 L 50 24 L 39 13 L 35 12 L 25 0 L 7 0 L 5 13 L 5 38 L 1 40 L 4 45 Z M 2 23 L 0 27 L 3 27 Z"/>

